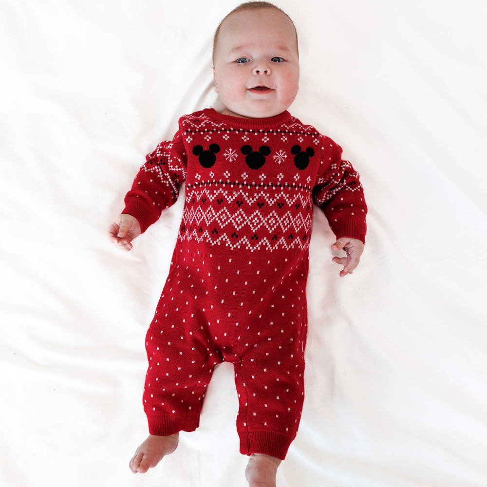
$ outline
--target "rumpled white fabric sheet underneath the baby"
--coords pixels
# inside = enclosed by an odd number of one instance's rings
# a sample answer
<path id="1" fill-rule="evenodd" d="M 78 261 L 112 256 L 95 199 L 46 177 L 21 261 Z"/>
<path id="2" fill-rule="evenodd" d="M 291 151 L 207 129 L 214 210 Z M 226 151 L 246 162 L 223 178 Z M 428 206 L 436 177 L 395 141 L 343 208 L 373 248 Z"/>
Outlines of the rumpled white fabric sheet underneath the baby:
<path id="1" fill-rule="evenodd" d="M 0 484 L 244 487 L 232 367 L 201 426 L 132 475 L 144 337 L 182 202 L 126 254 L 106 239 L 145 154 L 219 108 L 233 0 L 3 0 Z M 291 112 L 344 149 L 369 205 L 338 277 L 315 212 L 306 401 L 278 486 L 487 485 L 483 0 L 279 0 L 300 35 Z"/>

